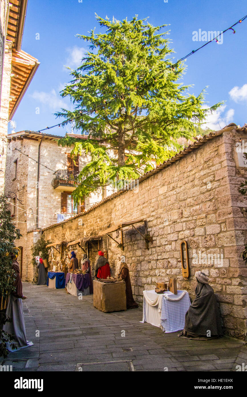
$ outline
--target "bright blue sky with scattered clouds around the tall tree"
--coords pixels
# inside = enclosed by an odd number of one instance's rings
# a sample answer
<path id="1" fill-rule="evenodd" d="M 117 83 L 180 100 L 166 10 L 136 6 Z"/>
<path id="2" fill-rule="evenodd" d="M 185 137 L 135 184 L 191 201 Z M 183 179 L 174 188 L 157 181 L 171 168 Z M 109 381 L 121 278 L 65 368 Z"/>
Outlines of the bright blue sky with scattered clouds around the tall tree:
<path id="1" fill-rule="evenodd" d="M 246 0 L 29 0 L 22 50 L 38 58 L 40 66 L 17 112 L 13 117 L 15 131 L 36 131 L 56 124 L 53 115 L 62 107 L 71 109 L 69 98 L 59 91 L 71 80 L 64 66 L 76 68 L 87 43 L 75 37 L 88 34 L 96 27 L 95 13 L 112 19 L 128 20 L 149 17 L 152 25 L 170 24 L 170 47 L 175 59 L 195 50 L 203 41 L 193 41 L 193 32 L 223 31 L 247 14 Z M 36 40 L 38 37 L 39 40 Z M 195 37 L 195 34 L 194 34 Z M 221 100 L 226 103 L 209 116 L 208 126 L 220 129 L 230 122 L 241 126 L 247 111 L 247 19 L 236 26 L 236 34 L 228 31 L 222 44 L 212 42 L 186 61 L 184 84 L 193 84 L 191 94 L 199 94 L 208 86 L 206 100 L 211 106 Z M 36 108 L 39 108 L 37 114 Z M 220 127 L 219 127 L 220 125 Z M 9 124 L 9 133 L 12 127 Z M 66 127 L 48 131 L 65 135 Z"/>

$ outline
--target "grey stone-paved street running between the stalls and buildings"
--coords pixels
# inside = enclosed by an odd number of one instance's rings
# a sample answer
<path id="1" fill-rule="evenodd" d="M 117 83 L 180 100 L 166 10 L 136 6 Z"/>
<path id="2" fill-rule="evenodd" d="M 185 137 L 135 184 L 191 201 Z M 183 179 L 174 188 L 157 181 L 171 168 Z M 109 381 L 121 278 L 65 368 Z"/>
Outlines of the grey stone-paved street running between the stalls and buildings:
<path id="1" fill-rule="evenodd" d="M 13 371 L 231 371 L 243 347 L 229 337 L 190 341 L 166 334 L 140 323 L 142 308 L 100 312 L 92 295 L 79 300 L 31 283 L 23 283 L 23 293 L 27 339 L 34 346 L 0 359 Z"/>

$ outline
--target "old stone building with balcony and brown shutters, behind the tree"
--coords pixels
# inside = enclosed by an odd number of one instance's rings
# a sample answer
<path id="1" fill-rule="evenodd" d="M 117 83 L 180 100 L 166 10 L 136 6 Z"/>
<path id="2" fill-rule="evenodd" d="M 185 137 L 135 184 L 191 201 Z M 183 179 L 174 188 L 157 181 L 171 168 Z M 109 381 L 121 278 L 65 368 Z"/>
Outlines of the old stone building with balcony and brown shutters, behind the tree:
<path id="1" fill-rule="evenodd" d="M 67 134 L 87 139 L 88 136 Z M 80 205 L 73 204 L 71 193 L 77 186 L 77 176 L 88 156 L 71 158 L 72 147 L 58 146 L 61 136 L 21 131 L 8 135 L 4 194 L 10 200 L 13 223 L 21 231 L 18 241 L 23 279 L 33 278 L 30 270 L 30 247 L 42 230 L 79 214 L 102 200 L 98 189 Z M 109 195 L 112 191 L 107 191 Z M 29 273 L 31 272 L 31 273 Z"/>

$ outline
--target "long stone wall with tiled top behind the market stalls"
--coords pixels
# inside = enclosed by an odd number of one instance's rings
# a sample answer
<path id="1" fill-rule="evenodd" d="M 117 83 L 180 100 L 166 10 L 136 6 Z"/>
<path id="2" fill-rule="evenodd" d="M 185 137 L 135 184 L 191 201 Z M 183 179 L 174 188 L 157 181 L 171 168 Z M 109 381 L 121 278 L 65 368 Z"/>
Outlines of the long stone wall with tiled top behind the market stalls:
<path id="1" fill-rule="evenodd" d="M 178 288 L 188 290 L 193 298 L 194 274 L 202 269 L 217 294 L 225 332 L 244 339 L 247 266 L 239 254 L 247 237 L 247 197 L 238 189 L 247 179 L 246 139 L 247 126 L 230 125 L 210 133 L 141 177 L 138 189 L 114 193 L 83 214 L 47 227 L 43 234 L 61 243 L 61 250 L 74 241 L 70 247 L 78 256 L 83 253 L 76 244 L 80 241 L 93 264 L 100 246 L 107 251 L 113 274 L 117 254 L 122 252 L 130 268 L 134 298 L 140 303 L 144 289 L 169 278 L 176 278 Z M 132 226 L 134 220 L 139 224 Z M 149 249 L 139 232 L 152 236 Z M 29 240 L 31 244 L 31 235 Z M 188 243 L 187 279 L 182 275 L 182 241 Z M 29 266 L 29 281 L 33 271 Z"/>

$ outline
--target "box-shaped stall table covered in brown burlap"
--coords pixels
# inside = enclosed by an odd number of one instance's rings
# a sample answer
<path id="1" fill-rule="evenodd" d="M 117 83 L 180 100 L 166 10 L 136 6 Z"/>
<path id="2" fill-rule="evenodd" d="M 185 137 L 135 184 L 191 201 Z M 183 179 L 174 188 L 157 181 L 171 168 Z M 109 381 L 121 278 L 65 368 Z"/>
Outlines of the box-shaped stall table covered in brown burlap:
<path id="1" fill-rule="evenodd" d="M 124 281 L 114 283 L 94 280 L 94 307 L 101 312 L 126 310 Z"/>

